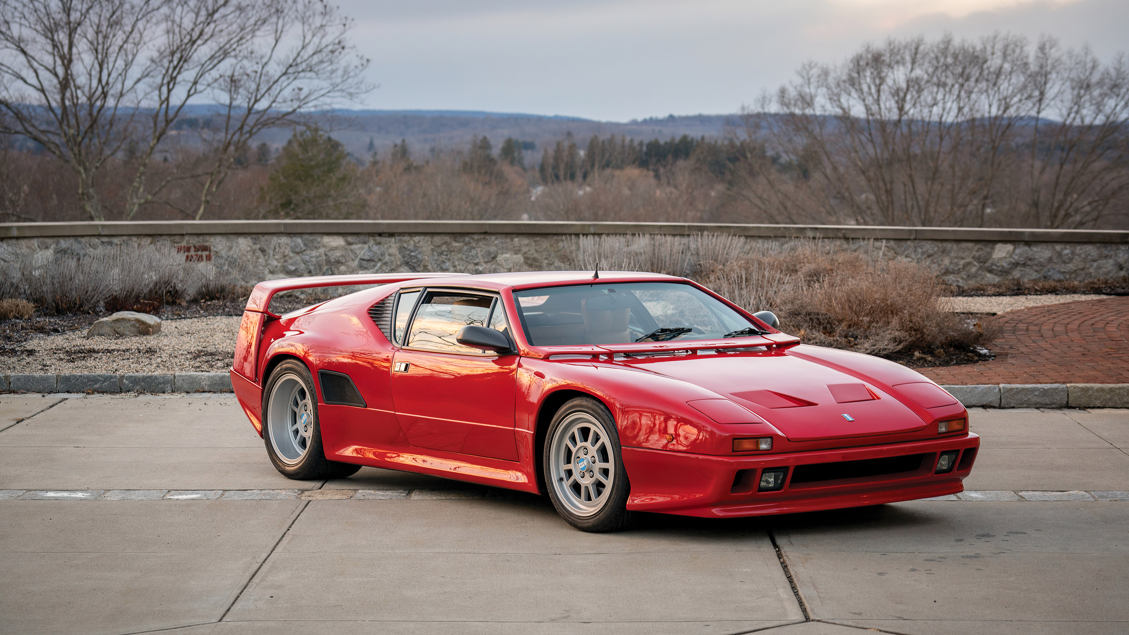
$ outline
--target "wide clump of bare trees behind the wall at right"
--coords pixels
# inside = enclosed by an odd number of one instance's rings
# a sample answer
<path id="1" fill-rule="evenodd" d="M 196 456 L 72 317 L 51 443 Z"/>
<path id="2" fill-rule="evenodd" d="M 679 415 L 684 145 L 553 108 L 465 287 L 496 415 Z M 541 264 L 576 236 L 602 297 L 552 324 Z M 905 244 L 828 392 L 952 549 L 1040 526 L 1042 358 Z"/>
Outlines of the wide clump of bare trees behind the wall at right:
<path id="1" fill-rule="evenodd" d="M 1093 226 L 1129 188 L 1127 95 L 1123 58 L 1045 38 L 1034 54 L 999 34 L 868 44 L 746 110 L 745 140 L 772 160 L 750 162 L 741 191 L 788 218 Z"/>

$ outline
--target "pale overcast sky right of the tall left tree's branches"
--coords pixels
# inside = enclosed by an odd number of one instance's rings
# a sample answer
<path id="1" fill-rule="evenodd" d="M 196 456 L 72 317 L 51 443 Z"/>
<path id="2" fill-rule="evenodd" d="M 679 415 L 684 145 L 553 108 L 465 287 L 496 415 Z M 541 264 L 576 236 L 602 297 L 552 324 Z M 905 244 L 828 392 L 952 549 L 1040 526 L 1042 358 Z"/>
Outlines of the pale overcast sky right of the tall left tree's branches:
<path id="1" fill-rule="evenodd" d="M 380 87 L 359 107 L 628 121 L 720 114 L 805 60 L 995 31 L 1127 46 L 1129 0 L 343 0 Z"/>

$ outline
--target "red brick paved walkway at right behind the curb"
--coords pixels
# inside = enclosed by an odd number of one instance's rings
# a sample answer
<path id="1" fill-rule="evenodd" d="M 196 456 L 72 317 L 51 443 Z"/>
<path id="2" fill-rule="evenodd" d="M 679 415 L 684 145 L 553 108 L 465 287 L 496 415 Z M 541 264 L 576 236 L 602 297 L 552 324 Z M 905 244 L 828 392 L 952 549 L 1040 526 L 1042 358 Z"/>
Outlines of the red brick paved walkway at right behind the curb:
<path id="1" fill-rule="evenodd" d="M 919 371 L 956 385 L 1129 383 L 1129 297 L 1009 311 L 996 323 L 996 359 Z"/>

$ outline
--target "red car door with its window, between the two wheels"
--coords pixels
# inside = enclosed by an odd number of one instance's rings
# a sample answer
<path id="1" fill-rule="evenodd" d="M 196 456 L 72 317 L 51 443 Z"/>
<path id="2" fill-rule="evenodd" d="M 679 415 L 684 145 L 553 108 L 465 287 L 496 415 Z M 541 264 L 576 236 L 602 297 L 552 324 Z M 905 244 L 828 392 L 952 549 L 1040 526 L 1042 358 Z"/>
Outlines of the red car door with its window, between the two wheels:
<path id="1" fill-rule="evenodd" d="M 508 332 L 499 298 L 428 289 L 392 365 L 396 419 L 417 447 L 517 460 L 514 401 L 517 355 L 462 346 L 473 324 Z"/>

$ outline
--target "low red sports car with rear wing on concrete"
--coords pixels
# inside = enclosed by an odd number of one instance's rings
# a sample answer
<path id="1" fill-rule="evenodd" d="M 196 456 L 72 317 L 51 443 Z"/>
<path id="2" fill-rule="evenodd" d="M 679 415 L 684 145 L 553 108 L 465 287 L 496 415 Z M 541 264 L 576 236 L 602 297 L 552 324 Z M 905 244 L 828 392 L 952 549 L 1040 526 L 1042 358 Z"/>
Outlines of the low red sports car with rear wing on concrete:
<path id="1" fill-rule="evenodd" d="M 379 285 L 291 313 L 281 290 Z M 622 271 L 271 280 L 231 384 L 296 479 L 361 466 L 548 494 L 585 531 L 954 494 L 980 438 L 922 375 L 805 346 L 684 278 Z"/>

